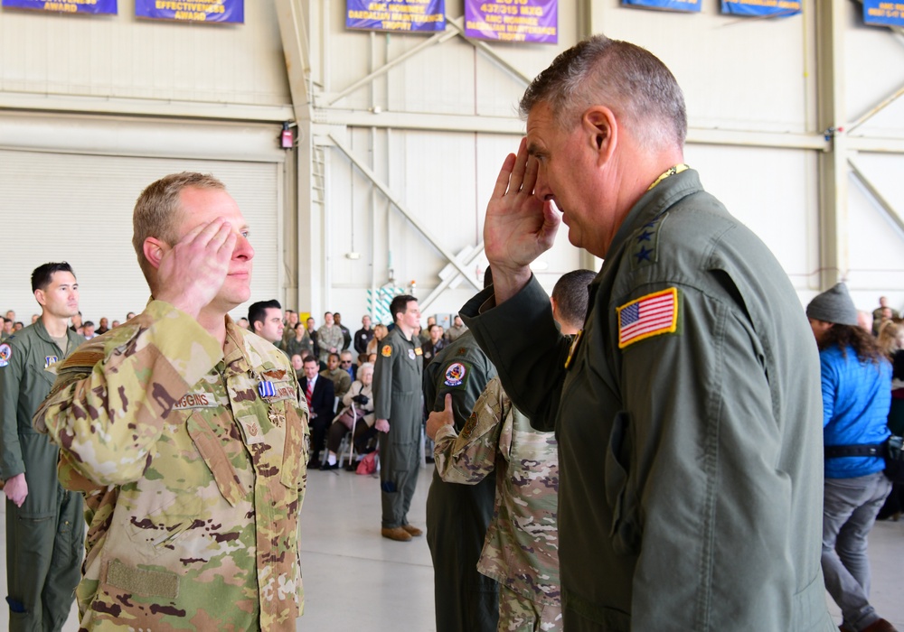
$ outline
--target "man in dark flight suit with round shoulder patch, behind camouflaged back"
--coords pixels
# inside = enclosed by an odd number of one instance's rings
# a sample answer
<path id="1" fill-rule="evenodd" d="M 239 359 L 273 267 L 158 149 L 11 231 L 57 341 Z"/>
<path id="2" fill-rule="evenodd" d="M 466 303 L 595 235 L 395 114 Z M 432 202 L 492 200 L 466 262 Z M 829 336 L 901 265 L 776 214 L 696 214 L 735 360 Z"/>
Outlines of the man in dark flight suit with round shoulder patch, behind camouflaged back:
<path id="1" fill-rule="evenodd" d="M 490 268 L 484 287 L 493 283 Z M 424 403 L 442 411 L 452 396 L 457 432 L 496 369 L 469 331 L 442 349 L 424 369 Z M 494 632 L 498 584 L 477 572 L 486 529 L 493 518 L 495 473 L 476 485 L 457 485 L 433 470 L 427 496 L 427 544 L 433 558 L 437 632 Z"/>

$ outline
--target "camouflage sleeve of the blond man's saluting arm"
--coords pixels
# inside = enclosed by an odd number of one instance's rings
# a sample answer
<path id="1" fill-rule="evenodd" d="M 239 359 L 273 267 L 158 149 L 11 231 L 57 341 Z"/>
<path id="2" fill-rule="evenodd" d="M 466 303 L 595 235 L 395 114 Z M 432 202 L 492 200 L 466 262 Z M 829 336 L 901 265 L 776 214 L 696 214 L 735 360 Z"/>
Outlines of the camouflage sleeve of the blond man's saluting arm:
<path id="1" fill-rule="evenodd" d="M 34 415 L 35 427 L 99 485 L 142 476 L 174 404 L 222 358 L 219 342 L 166 302 L 148 303 L 114 331 L 61 363 Z"/>

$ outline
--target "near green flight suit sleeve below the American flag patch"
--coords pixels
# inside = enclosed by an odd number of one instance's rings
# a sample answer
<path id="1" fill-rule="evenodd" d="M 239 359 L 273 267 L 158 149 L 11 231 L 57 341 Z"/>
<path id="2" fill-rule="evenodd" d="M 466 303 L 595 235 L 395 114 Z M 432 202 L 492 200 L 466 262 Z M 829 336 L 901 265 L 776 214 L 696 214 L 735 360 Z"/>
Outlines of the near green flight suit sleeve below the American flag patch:
<path id="1" fill-rule="evenodd" d="M 631 627 L 788 629 L 794 557 L 774 548 L 793 530 L 792 487 L 776 466 L 782 436 L 763 350 L 729 293 L 679 293 L 677 333 L 620 351 L 624 410 L 606 491 L 616 547 L 638 555 Z M 590 370 L 607 362 L 588 352 Z"/>

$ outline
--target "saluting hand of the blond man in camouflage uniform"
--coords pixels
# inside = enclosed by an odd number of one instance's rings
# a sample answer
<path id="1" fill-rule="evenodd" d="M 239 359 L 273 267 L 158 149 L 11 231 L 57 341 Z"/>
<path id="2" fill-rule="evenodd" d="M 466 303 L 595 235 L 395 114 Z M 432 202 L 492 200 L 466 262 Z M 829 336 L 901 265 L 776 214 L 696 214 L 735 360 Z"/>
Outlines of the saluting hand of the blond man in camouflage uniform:
<path id="1" fill-rule="evenodd" d="M 190 230 L 161 257 L 155 298 L 196 317 L 220 292 L 236 239 L 223 218 Z"/>

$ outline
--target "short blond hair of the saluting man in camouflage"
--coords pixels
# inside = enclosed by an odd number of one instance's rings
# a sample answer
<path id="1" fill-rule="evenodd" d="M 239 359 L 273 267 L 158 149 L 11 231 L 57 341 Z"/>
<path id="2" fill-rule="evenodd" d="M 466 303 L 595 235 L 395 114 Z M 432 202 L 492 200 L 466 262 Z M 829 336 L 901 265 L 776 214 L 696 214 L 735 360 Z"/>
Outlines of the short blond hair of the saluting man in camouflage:
<path id="1" fill-rule="evenodd" d="M 132 246 L 138 256 L 138 265 L 145 279 L 150 283 L 153 266 L 145 258 L 144 245 L 147 237 L 156 237 L 174 246 L 178 235 L 179 199 L 184 189 L 215 189 L 226 191 L 226 185 L 212 175 L 196 172 L 172 173 L 148 184 L 135 202 L 132 213 Z"/>

